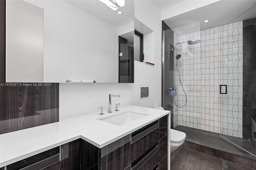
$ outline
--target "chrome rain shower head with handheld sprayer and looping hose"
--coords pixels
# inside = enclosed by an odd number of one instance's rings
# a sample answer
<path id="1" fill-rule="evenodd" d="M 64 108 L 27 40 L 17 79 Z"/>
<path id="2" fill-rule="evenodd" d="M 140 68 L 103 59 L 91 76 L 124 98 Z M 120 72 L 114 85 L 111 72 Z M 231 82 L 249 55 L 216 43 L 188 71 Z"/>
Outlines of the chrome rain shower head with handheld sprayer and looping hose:
<path id="1" fill-rule="evenodd" d="M 177 95 L 177 91 L 176 91 L 177 88 L 176 88 L 176 85 L 175 85 L 175 79 L 176 79 L 176 73 L 175 73 L 175 72 L 176 72 L 176 66 L 178 66 L 179 59 L 180 59 L 180 57 L 181 57 L 180 54 L 177 54 L 177 55 L 176 55 L 176 45 L 182 44 L 182 43 L 188 43 L 189 45 L 194 45 L 194 44 L 200 43 L 200 40 L 189 40 L 189 41 L 186 41 L 186 42 L 179 42 L 179 43 L 176 43 L 176 44 L 174 45 L 174 48 L 170 49 L 171 51 L 174 51 L 174 56 L 175 56 L 175 58 L 174 58 L 174 83 L 173 83 L 173 87 L 170 88 L 170 90 L 171 90 L 170 95 L 171 95 L 171 96 L 174 96 L 174 103 L 175 103 L 175 105 L 176 105 L 177 107 L 180 107 L 180 108 L 185 107 L 185 106 L 187 105 L 187 102 L 188 102 L 187 94 L 186 94 L 186 92 L 185 92 L 185 90 L 184 90 L 183 84 L 182 84 L 181 79 L 180 79 L 179 67 L 177 67 L 177 71 L 178 71 L 178 76 L 179 76 L 180 85 L 181 85 L 182 90 L 183 90 L 183 92 L 184 92 L 184 94 L 185 94 L 185 96 L 186 96 L 186 103 L 185 103 L 185 105 L 178 106 L 178 105 L 176 104 L 176 101 L 175 101 L 175 97 L 176 97 L 176 95 Z M 177 63 L 176 63 L 176 60 L 177 60 Z"/>

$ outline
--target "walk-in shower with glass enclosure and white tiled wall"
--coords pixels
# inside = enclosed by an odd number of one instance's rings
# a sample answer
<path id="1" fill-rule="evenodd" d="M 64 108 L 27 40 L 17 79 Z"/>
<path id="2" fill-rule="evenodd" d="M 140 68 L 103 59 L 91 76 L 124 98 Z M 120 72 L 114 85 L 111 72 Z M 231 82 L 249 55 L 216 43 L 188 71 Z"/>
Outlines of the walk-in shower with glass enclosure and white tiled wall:
<path id="1" fill-rule="evenodd" d="M 256 160 L 255 53 L 251 52 L 256 47 L 255 21 L 186 34 L 167 29 L 162 41 L 162 107 L 171 111 L 171 127 L 196 132 L 196 137 L 187 135 L 187 141 L 251 160 Z M 223 85 L 225 93 L 220 90 Z M 216 139 L 209 142 L 204 134 Z"/>

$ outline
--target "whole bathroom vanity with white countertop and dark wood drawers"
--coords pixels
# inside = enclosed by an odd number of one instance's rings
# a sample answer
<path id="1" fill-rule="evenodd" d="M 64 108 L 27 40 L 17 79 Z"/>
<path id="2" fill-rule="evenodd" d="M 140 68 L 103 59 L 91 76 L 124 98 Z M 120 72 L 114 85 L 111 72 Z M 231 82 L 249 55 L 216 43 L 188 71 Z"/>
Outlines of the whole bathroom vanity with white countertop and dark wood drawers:
<path id="1" fill-rule="evenodd" d="M 127 112 L 144 116 L 123 125 L 102 121 Z M 118 113 L 104 113 L 0 135 L 1 170 L 168 168 L 170 111 L 126 106 Z"/>

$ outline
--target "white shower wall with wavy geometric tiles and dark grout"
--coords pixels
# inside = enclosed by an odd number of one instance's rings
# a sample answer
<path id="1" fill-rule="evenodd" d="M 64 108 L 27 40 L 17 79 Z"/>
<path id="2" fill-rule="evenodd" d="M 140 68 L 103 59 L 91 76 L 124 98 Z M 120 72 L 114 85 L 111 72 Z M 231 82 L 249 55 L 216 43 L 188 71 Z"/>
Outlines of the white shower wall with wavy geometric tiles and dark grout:
<path id="1" fill-rule="evenodd" d="M 178 108 L 174 125 L 242 138 L 242 30 L 241 21 L 178 36 L 178 42 L 201 42 L 178 47 L 182 55 L 178 69 L 188 102 Z M 175 101 L 182 106 L 186 97 L 177 72 Z M 228 85 L 228 93 L 220 94 L 219 85 Z"/>

